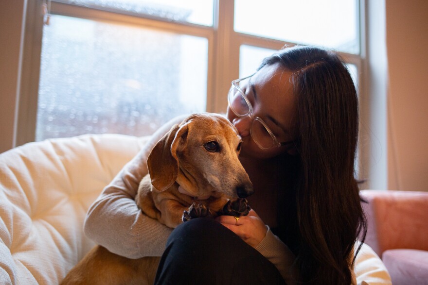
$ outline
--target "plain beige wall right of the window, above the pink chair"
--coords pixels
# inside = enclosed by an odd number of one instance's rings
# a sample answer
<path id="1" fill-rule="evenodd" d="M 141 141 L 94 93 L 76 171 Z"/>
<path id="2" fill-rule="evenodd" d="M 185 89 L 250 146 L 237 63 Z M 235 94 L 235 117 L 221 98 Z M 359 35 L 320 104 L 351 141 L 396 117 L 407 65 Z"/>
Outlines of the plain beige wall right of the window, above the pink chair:
<path id="1" fill-rule="evenodd" d="M 428 1 L 387 0 L 388 188 L 428 191 Z"/>

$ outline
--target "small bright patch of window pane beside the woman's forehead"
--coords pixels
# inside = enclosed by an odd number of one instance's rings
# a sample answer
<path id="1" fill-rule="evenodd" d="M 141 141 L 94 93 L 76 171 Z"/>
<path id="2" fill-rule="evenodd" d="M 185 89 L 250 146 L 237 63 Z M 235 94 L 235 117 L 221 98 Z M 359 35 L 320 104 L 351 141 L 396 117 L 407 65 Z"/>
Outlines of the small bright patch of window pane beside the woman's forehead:
<path id="1" fill-rule="evenodd" d="M 239 47 L 239 78 L 253 74 L 265 57 L 276 50 L 242 45 Z"/>

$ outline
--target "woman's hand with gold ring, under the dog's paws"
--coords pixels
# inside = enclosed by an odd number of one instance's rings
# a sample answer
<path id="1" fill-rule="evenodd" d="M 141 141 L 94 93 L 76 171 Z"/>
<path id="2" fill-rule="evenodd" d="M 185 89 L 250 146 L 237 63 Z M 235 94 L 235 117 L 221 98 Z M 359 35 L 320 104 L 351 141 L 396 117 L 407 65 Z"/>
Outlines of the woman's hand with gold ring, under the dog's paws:
<path id="1" fill-rule="evenodd" d="M 253 248 L 265 238 L 267 233 L 265 223 L 254 210 L 250 210 L 247 216 L 241 216 L 238 220 L 233 216 L 219 216 L 215 219 Z"/>

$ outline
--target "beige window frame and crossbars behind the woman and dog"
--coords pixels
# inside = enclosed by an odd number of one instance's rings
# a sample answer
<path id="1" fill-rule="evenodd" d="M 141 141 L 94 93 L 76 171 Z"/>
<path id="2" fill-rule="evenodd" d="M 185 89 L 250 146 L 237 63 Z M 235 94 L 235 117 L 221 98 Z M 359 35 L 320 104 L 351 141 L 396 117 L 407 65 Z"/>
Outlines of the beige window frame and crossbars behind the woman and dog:
<path id="1" fill-rule="evenodd" d="M 365 67 L 365 1 L 357 0 L 359 5 L 359 15 L 357 17 L 359 25 L 357 26 L 359 27 L 358 34 L 360 36 L 360 54 L 339 52 L 346 63 L 357 67 L 360 97 L 365 96 L 367 92 L 365 82 L 368 76 L 368 68 Z M 16 145 L 32 142 L 36 136 L 37 97 L 43 36 L 43 2 L 44 0 L 27 2 Z M 86 7 L 69 3 L 67 0 L 52 0 L 51 14 L 143 26 L 165 32 L 207 38 L 207 112 L 225 112 L 227 107 L 226 96 L 231 81 L 239 77 L 239 49 L 241 45 L 272 50 L 279 50 L 284 45 L 296 45 L 296 43 L 292 42 L 235 32 L 233 30 L 234 0 L 214 0 L 214 23 L 211 27 L 174 22 L 160 17 L 150 17 L 104 7 Z M 218 95 L 215 96 L 215 94 Z M 368 106 L 360 104 L 360 121 L 362 123 L 368 121 L 367 109 Z M 361 148 L 361 145 L 359 147 Z M 364 158 L 361 159 L 364 160 Z"/>

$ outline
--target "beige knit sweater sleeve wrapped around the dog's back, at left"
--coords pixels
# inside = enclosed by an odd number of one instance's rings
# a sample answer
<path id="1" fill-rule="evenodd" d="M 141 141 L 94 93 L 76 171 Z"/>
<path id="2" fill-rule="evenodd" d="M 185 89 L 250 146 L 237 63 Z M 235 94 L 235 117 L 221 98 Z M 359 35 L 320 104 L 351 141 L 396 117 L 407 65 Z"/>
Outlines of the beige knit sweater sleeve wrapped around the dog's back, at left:
<path id="1" fill-rule="evenodd" d="M 134 198 L 141 179 L 148 173 L 150 151 L 174 124 L 183 119 L 176 117 L 153 134 L 89 207 L 84 231 L 95 243 L 128 258 L 162 254 L 173 229 L 144 215 Z"/>

